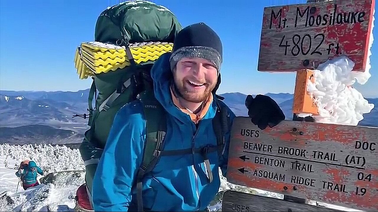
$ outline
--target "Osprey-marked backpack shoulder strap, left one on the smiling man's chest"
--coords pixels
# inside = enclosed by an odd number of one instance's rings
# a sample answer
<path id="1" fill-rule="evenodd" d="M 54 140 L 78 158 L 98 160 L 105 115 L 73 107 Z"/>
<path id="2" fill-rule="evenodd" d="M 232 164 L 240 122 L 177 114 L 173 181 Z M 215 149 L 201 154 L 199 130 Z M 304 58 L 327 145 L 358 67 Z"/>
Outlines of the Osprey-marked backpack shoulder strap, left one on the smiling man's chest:
<path id="1" fill-rule="evenodd" d="M 143 162 L 137 171 L 136 189 L 138 211 L 143 211 L 142 180 L 145 174 L 152 171 L 158 159 L 159 151 L 163 150 L 166 135 L 166 111 L 156 100 L 153 92 L 147 90 L 140 94 L 143 103 L 144 117 L 146 118 L 146 146 L 144 148 Z"/>

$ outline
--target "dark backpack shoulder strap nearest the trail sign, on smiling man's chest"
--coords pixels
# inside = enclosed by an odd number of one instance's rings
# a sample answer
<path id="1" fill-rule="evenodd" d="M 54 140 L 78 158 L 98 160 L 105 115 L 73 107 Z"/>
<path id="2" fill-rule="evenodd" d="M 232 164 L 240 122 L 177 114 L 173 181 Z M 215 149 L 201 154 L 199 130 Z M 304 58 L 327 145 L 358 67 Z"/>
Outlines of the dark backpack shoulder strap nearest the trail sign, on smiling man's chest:
<path id="1" fill-rule="evenodd" d="M 228 114 L 228 108 L 226 104 L 222 101 L 223 97 L 215 95 L 215 102 L 217 104 L 217 112 L 215 117 L 212 119 L 212 125 L 214 129 L 215 136 L 217 137 L 217 145 L 220 150 L 219 156 L 223 155 L 225 152 L 226 143 L 226 132 L 230 126 L 230 115 Z"/>

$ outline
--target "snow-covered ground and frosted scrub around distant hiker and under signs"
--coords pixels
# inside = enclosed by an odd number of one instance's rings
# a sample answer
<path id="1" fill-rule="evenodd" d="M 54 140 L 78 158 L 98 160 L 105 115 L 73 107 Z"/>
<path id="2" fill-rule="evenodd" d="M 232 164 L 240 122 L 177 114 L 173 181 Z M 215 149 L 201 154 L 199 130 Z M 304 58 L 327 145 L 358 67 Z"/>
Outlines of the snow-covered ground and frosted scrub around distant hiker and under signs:
<path id="1" fill-rule="evenodd" d="M 23 190 L 15 172 L 23 160 L 34 160 L 37 165 L 49 173 L 55 172 L 52 178 L 47 178 L 46 184 Z M 84 183 L 84 163 L 78 149 L 49 144 L 9 145 L 0 144 L 0 210 L 2 211 L 74 211 L 76 189 Z M 39 179 L 43 176 L 39 176 Z M 260 189 L 228 183 L 221 179 L 219 195 L 211 203 L 209 209 L 217 211 L 221 208 L 220 199 L 224 190 L 238 190 L 249 194 L 282 199 L 283 195 Z M 8 198 L 6 198 L 8 197 Z M 316 204 L 311 201 L 310 204 Z M 344 207 L 327 207 L 347 210 Z"/>

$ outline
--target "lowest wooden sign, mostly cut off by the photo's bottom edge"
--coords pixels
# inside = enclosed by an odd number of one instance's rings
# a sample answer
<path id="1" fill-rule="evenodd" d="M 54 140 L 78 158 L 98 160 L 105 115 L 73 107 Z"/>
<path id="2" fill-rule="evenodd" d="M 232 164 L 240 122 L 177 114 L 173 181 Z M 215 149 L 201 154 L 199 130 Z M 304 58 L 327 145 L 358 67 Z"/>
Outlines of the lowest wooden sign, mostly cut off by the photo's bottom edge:
<path id="1" fill-rule="evenodd" d="M 244 192 L 226 190 L 222 199 L 222 211 L 344 211 L 332 208 L 295 203 L 277 198 L 263 197 Z"/>

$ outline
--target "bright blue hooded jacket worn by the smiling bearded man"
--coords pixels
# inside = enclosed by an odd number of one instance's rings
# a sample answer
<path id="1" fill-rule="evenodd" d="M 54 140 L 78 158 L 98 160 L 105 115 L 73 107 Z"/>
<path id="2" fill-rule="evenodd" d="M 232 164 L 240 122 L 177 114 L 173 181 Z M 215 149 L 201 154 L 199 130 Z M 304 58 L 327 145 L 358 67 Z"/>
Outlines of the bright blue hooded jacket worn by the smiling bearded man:
<path id="1" fill-rule="evenodd" d="M 163 54 L 151 70 L 155 97 L 167 111 L 164 151 L 217 145 L 212 126 L 217 109 L 215 95 L 197 127 L 189 115 L 180 111 L 172 101 L 169 56 L 170 53 Z M 235 115 L 226 108 L 232 123 Z M 226 176 L 230 131 L 227 129 L 223 155 L 218 157 L 218 151 L 207 154 L 212 180 L 209 180 L 209 166 L 204 163 L 200 152 L 161 156 L 154 169 L 143 178 L 144 210 L 205 210 L 220 187 L 219 167 Z M 146 119 L 142 103 L 132 101 L 116 114 L 99 160 L 92 188 L 95 211 L 136 211 L 136 173 L 143 160 L 145 142 Z"/>

